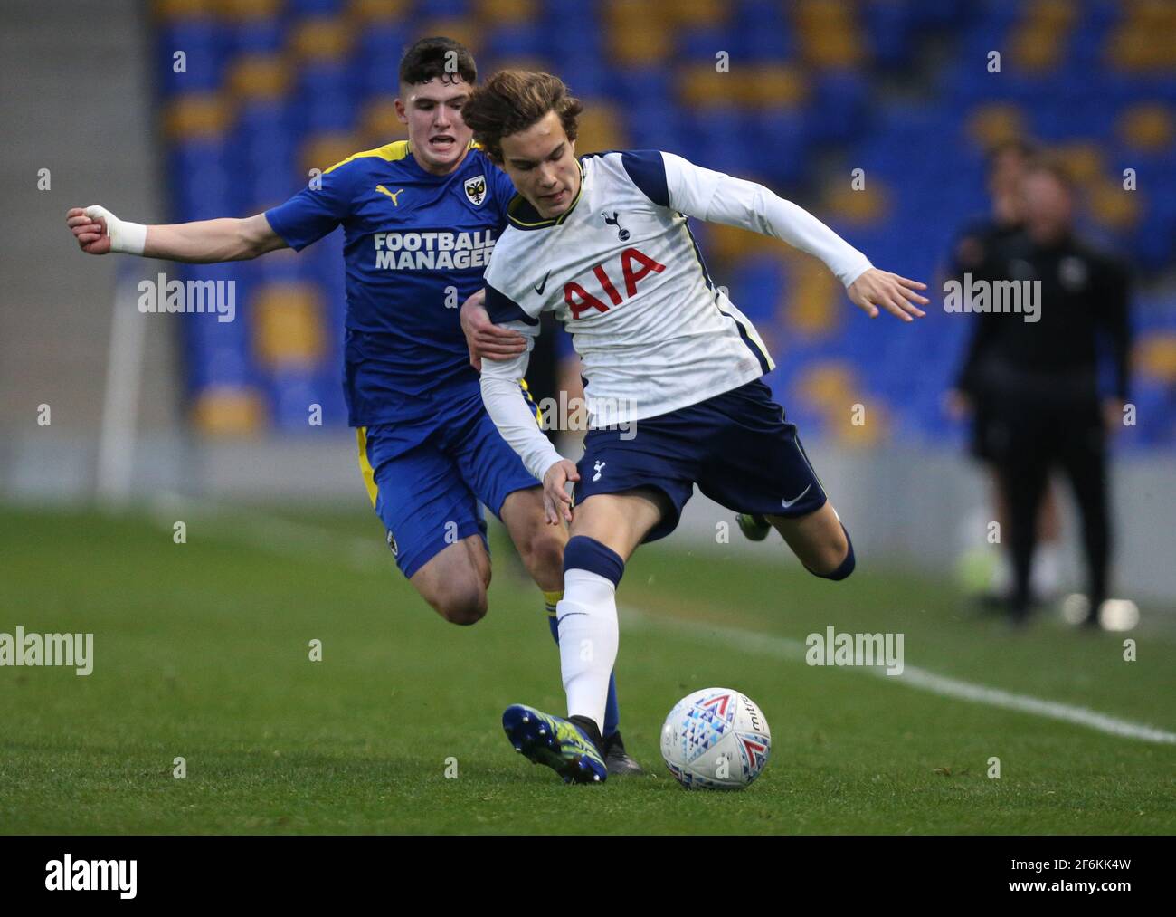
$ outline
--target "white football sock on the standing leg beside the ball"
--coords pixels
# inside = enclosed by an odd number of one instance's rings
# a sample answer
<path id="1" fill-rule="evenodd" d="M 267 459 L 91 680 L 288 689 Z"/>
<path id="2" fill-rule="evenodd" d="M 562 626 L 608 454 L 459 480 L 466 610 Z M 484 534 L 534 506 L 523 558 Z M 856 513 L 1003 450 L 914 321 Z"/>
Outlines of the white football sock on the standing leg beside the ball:
<path id="1" fill-rule="evenodd" d="M 560 669 L 568 716 L 589 717 L 603 732 L 608 679 L 619 644 L 616 586 L 599 573 L 569 570 L 563 576 L 563 598 L 555 614 L 560 622 Z"/>

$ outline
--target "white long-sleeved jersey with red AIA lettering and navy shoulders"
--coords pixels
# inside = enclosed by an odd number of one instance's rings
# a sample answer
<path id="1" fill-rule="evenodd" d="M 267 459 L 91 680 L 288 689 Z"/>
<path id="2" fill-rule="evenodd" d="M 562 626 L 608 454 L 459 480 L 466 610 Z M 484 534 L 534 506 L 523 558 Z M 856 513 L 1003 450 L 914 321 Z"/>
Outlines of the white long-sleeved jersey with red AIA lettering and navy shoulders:
<path id="1" fill-rule="evenodd" d="M 710 281 L 687 217 L 741 226 L 814 254 L 849 286 L 869 260 L 828 226 L 751 181 L 659 151 L 581 160 L 580 193 L 544 220 L 521 195 L 486 271 L 495 324 L 533 338 L 553 311 L 572 332 L 592 427 L 697 404 L 774 367 L 751 323 Z M 528 351 L 533 340 L 528 340 Z M 482 397 L 542 479 L 559 459 L 517 386 L 528 353 L 482 361 Z"/>

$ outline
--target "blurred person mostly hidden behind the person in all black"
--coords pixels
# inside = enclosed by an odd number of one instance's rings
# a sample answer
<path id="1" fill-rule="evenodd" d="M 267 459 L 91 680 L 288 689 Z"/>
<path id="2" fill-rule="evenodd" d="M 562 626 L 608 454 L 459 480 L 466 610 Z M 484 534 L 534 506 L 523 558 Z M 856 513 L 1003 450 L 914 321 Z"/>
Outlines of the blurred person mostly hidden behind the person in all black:
<path id="1" fill-rule="evenodd" d="M 1034 146 L 1025 140 L 1005 140 L 989 151 L 988 193 L 991 199 L 991 213 L 973 220 L 960 233 L 951 253 L 953 278 L 962 280 L 964 274 L 971 274 L 976 279 L 994 279 L 991 259 L 996 248 L 1024 227 L 1021 180 L 1034 154 Z M 955 387 L 948 392 L 948 411 L 956 419 L 965 417 L 970 419 L 970 451 L 973 457 L 985 466 L 989 477 L 990 518 L 1000 523 L 1002 530 L 1007 530 L 1009 501 L 1001 486 L 990 443 L 993 436 L 990 394 L 977 381 L 982 376 L 984 363 L 990 357 L 984 345 L 991 341 L 991 335 L 980 326 L 994 319 L 1000 320 L 1000 315 L 989 312 L 973 315 L 971 338 L 963 365 Z M 1037 514 L 1037 539 L 1040 549 L 1034 564 L 1034 594 L 1037 599 L 1048 599 L 1058 589 L 1062 540 L 1056 492 L 1049 479 L 1045 481 Z M 1013 587 L 1011 558 L 1003 547 L 1000 559 L 1001 563 L 989 578 L 989 591 L 982 597 L 983 604 L 990 607 L 1000 606 Z"/>

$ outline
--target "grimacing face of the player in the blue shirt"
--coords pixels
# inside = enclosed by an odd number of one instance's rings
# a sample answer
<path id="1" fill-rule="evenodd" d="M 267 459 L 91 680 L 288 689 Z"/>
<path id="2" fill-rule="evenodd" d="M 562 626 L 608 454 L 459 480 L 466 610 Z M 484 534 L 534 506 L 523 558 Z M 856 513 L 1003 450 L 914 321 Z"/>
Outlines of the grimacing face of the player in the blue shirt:
<path id="1" fill-rule="evenodd" d="M 461 77 L 407 84 L 396 99 L 396 117 L 408 125 L 413 157 L 426 172 L 447 175 L 466 158 L 473 131 L 461 119 L 470 86 Z"/>

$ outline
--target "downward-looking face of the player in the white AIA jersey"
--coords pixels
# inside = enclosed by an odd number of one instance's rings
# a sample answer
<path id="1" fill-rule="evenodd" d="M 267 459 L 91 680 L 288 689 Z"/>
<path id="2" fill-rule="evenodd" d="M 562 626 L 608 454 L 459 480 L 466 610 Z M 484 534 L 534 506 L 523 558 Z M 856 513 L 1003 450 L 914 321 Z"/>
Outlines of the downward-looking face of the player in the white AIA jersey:
<path id="1" fill-rule="evenodd" d="M 502 160 L 515 191 L 544 219 L 567 211 L 580 193 L 576 144 L 568 140 L 555 112 L 548 112 L 526 131 L 503 137 Z"/>

